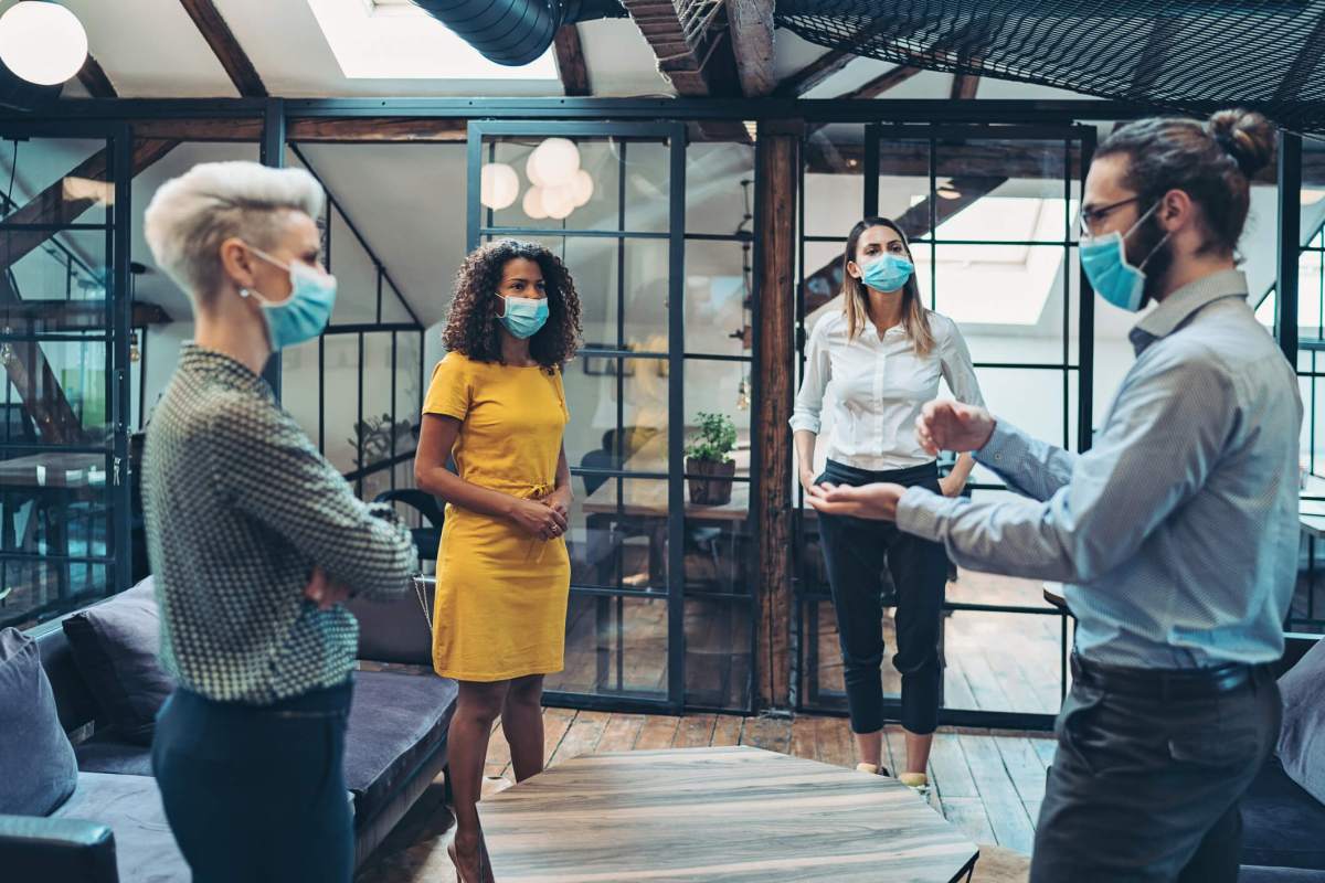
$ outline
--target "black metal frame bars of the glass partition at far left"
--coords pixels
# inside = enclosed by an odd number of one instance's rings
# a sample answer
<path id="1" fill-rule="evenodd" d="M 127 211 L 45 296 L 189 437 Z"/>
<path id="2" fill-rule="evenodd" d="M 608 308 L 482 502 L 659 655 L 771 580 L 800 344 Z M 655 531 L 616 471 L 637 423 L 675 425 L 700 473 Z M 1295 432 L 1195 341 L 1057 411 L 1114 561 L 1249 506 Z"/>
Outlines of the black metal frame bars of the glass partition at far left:
<path id="1" fill-rule="evenodd" d="M 23 332 L 13 334 L 0 331 L 0 344 L 11 343 L 99 343 L 105 346 L 105 361 L 102 400 L 105 402 L 105 441 L 95 443 L 13 443 L 7 437 L 0 441 L 0 450 L 9 457 L 38 455 L 49 453 L 60 454 L 101 454 L 105 457 L 103 474 L 106 475 L 105 503 L 106 503 L 106 555 L 57 555 L 52 552 L 20 552 L 0 549 L 0 573 L 7 573 L 12 565 L 45 564 L 62 571 L 57 576 L 58 597 L 37 608 L 26 608 L 19 613 L 7 616 L 0 610 L 0 626 L 20 622 L 41 622 L 58 617 L 81 604 L 114 594 L 129 588 L 131 561 L 130 561 L 130 481 L 129 481 L 129 413 L 131 401 L 129 351 L 130 351 L 130 322 L 132 303 L 129 297 L 129 246 L 130 246 L 130 187 L 132 179 L 131 154 L 132 138 L 127 124 L 122 120 L 25 120 L 13 116 L 0 116 L 0 139 L 25 142 L 29 139 L 78 139 L 102 142 L 107 151 L 106 183 L 114 188 L 114 205 L 106 208 L 106 217 L 99 224 L 73 222 L 73 224 L 13 224 L 7 218 L 0 220 L 0 236 L 8 232 L 34 232 L 45 230 L 53 234 L 62 232 L 102 232 L 105 234 L 103 254 L 107 261 L 105 283 L 105 314 L 101 328 L 89 332 Z M 12 205 L 7 205 L 7 212 Z M 64 248 L 57 245 L 57 248 Z M 68 249 L 64 249 L 68 252 Z M 66 285 L 73 273 L 73 256 L 68 265 Z M 9 271 L 9 267 L 5 267 Z M 12 384 L 5 376 L 7 401 Z M 78 414 L 82 420 L 82 414 Z M 66 522 L 58 530 L 66 532 L 70 524 Z M 91 536 L 89 527 L 89 537 Z M 82 565 L 85 573 L 90 576 L 93 568 L 102 568 L 105 585 L 102 592 L 73 590 L 72 567 Z M 0 584 L 0 593 L 8 594 L 8 580 Z"/>

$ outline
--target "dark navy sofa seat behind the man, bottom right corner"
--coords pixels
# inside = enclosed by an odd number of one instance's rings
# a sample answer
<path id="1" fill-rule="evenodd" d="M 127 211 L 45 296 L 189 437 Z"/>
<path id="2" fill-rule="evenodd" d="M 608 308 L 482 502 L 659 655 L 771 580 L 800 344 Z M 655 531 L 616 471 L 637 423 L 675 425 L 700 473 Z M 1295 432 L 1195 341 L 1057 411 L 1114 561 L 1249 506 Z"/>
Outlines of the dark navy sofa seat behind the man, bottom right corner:
<path id="1" fill-rule="evenodd" d="M 1243 794 L 1243 864 L 1325 870 L 1325 806 L 1271 757 Z"/>

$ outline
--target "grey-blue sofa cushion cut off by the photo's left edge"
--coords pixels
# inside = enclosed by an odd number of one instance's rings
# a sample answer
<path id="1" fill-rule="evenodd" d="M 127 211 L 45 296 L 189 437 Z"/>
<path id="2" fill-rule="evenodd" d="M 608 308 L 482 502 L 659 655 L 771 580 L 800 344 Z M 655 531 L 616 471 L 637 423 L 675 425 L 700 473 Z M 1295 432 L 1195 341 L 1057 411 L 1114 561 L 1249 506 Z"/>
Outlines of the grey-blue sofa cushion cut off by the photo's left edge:
<path id="1" fill-rule="evenodd" d="M 78 781 L 37 642 L 0 630 L 0 813 L 48 815 Z"/>

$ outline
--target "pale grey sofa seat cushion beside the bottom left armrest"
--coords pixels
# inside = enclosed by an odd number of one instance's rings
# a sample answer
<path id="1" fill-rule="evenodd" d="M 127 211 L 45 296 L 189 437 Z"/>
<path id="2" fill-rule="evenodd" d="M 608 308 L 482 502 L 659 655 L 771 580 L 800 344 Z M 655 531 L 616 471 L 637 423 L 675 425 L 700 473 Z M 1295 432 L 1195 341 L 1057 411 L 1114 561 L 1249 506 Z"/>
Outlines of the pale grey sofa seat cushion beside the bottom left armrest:
<path id="1" fill-rule="evenodd" d="M 56 818 L 78 818 L 110 826 L 115 864 L 129 883 L 188 883 L 188 863 L 166 822 L 160 790 L 150 776 L 81 773 L 78 790 Z"/>

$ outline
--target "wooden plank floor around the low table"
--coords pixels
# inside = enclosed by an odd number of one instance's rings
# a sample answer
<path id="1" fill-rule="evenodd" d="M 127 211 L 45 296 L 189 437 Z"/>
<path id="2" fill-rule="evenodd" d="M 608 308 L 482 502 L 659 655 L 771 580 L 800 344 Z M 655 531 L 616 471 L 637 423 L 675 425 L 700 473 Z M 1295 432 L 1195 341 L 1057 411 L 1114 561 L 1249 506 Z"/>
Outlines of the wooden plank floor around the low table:
<path id="1" fill-rule="evenodd" d="M 547 708 L 543 712 L 549 767 L 587 753 L 632 749 L 755 745 L 837 767 L 855 767 L 847 721 L 840 718 L 735 718 L 727 715 L 617 715 Z M 884 763 L 902 757 L 901 728 L 892 727 Z M 1053 759 L 1045 733 L 939 729 L 930 757 L 930 804 L 977 843 L 1030 854 L 1044 797 L 1044 772 Z M 510 788 L 510 749 L 498 727 L 488 751 L 484 790 Z M 445 854 L 450 813 L 439 780 L 391 833 L 356 876 L 356 883 L 454 880 Z"/>

